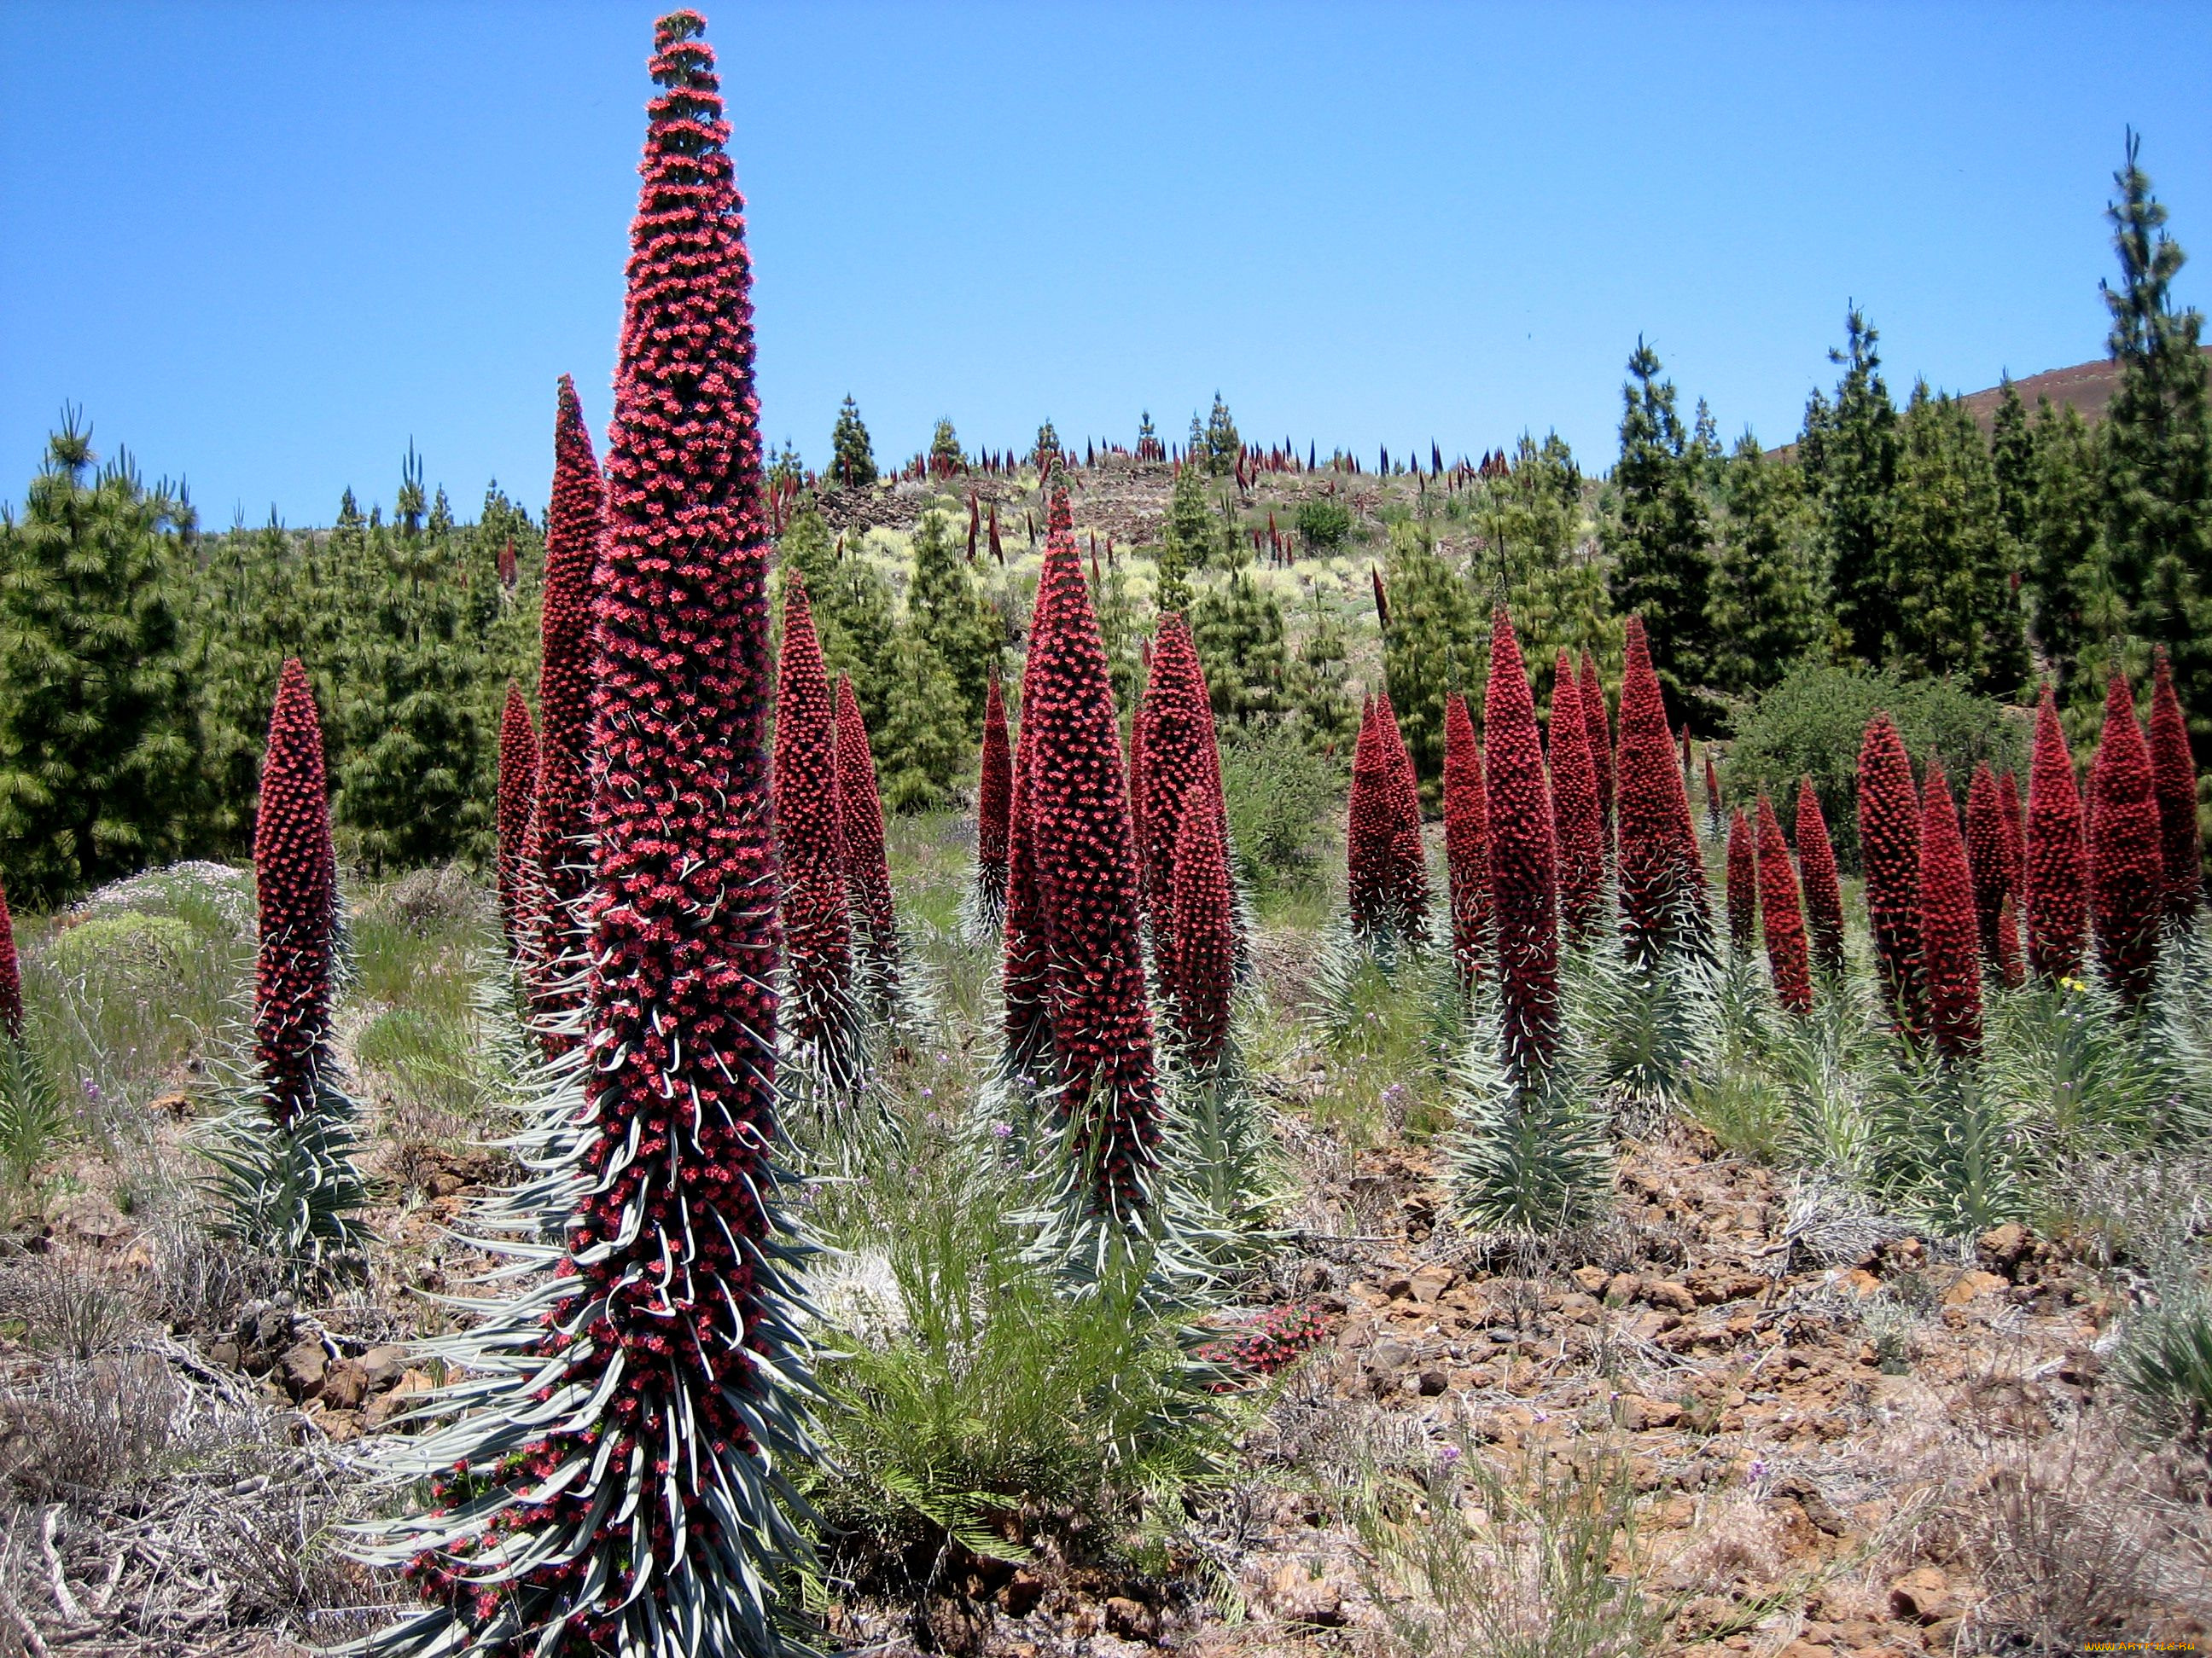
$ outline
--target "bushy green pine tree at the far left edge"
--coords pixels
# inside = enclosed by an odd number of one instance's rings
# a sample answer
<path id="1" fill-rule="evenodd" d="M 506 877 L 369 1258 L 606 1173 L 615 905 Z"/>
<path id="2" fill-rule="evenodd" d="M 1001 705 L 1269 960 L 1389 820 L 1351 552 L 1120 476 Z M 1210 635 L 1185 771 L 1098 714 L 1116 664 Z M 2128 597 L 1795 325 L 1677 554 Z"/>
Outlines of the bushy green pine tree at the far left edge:
<path id="1" fill-rule="evenodd" d="M 0 522 L 0 844 L 33 904 L 177 858 L 199 743 L 164 566 L 190 506 L 126 453 L 93 471 L 64 413 L 22 522 Z"/>

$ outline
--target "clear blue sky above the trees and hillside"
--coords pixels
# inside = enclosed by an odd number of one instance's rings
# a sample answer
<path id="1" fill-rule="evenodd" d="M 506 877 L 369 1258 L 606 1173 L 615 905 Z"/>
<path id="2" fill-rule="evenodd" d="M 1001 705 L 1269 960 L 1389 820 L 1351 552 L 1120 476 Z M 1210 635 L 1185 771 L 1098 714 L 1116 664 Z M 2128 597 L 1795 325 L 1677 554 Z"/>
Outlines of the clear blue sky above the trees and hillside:
<path id="1" fill-rule="evenodd" d="M 533 511 L 604 429 L 646 4 L 0 4 L 0 500 L 62 400 L 210 526 Z M 1858 298 L 1891 385 L 2097 356 L 2121 128 L 2212 298 L 2201 7 L 706 4 L 772 442 L 1179 436 L 1610 462 L 1648 336 L 1785 440 Z"/>

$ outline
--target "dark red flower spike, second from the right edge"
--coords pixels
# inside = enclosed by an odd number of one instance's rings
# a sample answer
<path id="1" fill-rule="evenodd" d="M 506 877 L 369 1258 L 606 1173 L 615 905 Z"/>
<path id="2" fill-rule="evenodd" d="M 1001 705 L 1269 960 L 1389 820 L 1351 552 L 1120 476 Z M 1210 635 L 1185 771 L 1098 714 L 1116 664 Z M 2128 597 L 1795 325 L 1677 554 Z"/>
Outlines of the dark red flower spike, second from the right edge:
<path id="1" fill-rule="evenodd" d="M 2128 1006 L 2137 1006 L 2159 970 L 2159 917 L 2166 911 L 2166 851 L 2152 789 L 2150 745 L 2135 721 L 2128 676 L 2112 674 L 2104 699 L 2104 732 L 2088 772 L 2090 900 L 2097 917 L 2097 966 Z"/>

